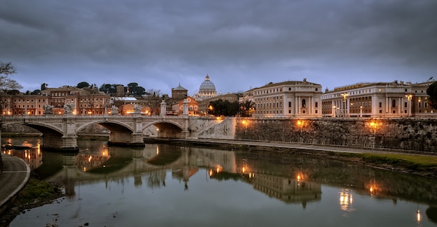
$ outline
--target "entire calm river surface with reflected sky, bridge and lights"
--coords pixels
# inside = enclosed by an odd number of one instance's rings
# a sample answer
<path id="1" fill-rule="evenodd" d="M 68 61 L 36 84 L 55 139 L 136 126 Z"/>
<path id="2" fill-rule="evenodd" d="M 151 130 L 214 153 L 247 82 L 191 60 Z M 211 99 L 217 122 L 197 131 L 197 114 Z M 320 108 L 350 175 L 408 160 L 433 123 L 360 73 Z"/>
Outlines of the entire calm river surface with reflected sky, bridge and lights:
<path id="1" fill-rule="evenodd" d="M 10 226 L 437 226 L 436 180 L 311 156 L 148 144 L 42 152 L 2 138 L 66 196 Z"/>

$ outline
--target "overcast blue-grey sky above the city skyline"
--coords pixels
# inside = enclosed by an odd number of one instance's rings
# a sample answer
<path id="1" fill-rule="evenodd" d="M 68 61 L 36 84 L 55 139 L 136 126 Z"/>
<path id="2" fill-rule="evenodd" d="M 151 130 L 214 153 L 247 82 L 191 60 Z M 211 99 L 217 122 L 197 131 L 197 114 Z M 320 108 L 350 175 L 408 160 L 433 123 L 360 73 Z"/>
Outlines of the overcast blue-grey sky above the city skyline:
<path id="1" fill-rule="evenodd" d="M 22 91 L 89 82 L 192 95 L 307 78 L 437 79 L 436 0 L 3 0 L 0 61 Z"/>

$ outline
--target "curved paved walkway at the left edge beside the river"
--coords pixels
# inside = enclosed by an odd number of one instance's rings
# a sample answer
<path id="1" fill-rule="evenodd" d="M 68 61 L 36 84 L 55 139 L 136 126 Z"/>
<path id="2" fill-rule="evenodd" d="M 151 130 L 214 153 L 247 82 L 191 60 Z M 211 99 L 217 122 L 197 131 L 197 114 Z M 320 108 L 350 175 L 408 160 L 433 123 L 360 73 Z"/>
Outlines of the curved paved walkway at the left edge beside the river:
<path id="1" fill-rule="evenodd" d="M 27 183 L 30 177 L 30 167 L 24 160 L 3 154 L 3 171 L 0 173 L 0 214 L 8 208 L 10 200 Z"/>

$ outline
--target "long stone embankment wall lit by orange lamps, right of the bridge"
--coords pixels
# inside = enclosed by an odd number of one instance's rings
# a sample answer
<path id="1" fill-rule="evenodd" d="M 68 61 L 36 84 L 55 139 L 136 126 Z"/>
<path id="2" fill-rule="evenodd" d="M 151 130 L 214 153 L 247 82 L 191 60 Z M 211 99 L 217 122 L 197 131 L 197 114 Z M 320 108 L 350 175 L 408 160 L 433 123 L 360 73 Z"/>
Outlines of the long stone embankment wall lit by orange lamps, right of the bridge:
<path id="1" fill-rule="evenodd" d="M 437 152 L 437 119 L 239 118 L 236 121 L 236 140 Z"/>

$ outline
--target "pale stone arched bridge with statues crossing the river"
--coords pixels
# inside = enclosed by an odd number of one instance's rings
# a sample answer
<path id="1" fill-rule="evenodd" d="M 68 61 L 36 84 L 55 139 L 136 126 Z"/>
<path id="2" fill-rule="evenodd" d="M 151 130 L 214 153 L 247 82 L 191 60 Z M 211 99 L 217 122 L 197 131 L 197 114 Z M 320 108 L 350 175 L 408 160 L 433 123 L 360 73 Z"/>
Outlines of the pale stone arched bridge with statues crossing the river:
<path id="1" fill-rule="evenodd" d="M 21 115 L 2 116 L 1 126 L 22 124 L 43 133 L 44 149 L 77 151 L 77 133 L 87 126 L 100 124 L 110 131 L 109 142 L 116 145 L 143 146 L 144 136 L 157 138 L 188 138 L 190 122 L 199 117 L 133 115 Z M 213 117 L 203 117 L 207 126 L 217 124 Z"/>

